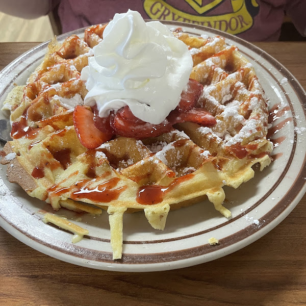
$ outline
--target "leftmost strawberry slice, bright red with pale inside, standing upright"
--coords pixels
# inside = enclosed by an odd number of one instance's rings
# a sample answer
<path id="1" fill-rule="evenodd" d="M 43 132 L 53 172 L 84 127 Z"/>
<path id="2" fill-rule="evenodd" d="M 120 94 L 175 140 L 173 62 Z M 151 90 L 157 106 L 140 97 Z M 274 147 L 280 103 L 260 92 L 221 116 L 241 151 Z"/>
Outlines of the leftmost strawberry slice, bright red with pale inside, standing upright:
<path id="1" fill-rule="evenodd" d="M 73 124 L 80 142 L 88 149 L 94 149 L 112 138 L 112 135 L 97 129 L 93 122 L 93 113 L 81 105 L 74 109 Z"/>

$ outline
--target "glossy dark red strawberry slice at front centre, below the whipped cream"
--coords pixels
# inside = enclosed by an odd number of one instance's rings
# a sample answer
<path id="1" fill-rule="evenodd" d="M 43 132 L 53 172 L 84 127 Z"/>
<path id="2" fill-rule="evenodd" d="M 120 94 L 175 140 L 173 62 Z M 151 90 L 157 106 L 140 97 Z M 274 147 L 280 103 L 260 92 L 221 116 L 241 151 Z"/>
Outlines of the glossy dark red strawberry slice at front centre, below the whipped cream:
<path id="1" fill-rule="evenodd" d="M 136 139 L 157 137 L 172 130 L 172 124 L 168 120 L 160 124 L 144 122 L 135 117 L 128 106 L 125 106 L 115 114 L 111 121 L 111 126 L 115 130 L 116 135 Z"/>

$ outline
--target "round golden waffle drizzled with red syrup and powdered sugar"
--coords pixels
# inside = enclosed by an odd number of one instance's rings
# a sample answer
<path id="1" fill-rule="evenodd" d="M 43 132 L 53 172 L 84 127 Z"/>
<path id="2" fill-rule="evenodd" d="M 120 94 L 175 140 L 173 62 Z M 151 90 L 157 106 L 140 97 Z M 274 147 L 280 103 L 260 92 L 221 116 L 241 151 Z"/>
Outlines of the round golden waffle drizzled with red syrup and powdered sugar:
<path id="1" fill-rule="evenodd" d="M 104 25 L 55 40 L 27 85 L 13 89 L 4 103 L 11 112 L 12 141 L 3 164 L 10 182 L 30 196 L 74 211 L 107 210 L 113 259 L 122 256 L 123 214 L 144 211 L 152 227 L 163 230 L 170 209 L 208 198 L 225 217 L 223 187 L 237 188 L 270 164 L 266 139 L 268 110 L 252 65 L 224 38 L 204 39 L 174 32 L 188 45 L 194 67 L 190 78 L 204 86 L 197 108 L 215 118 L 213 127 L 177 123 L 158 137 L 117 136 L 95 149 L 84 147 L 73 126 L 73 108 L 87 93 L 80 78 Z M 64 224 L 48 215 L 45 222 Z M 69 223 L 70 224 L 70 223 Z M 61 226 L 61 225 L 59 225 Z M 74 234 L 86 231 L 72 228 Z"/>

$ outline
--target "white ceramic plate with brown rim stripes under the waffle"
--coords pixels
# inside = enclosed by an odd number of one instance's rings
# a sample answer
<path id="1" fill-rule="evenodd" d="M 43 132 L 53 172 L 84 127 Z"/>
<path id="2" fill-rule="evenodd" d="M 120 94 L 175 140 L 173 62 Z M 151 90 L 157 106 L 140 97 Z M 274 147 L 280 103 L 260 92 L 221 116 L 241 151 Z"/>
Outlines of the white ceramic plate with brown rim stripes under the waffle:
<path id="1" fill-rule="evenodd" d="M 155 231 L 143 212 L 126 214 L 123 220 L 123 257 L 113 261 L 108 214 L 92 217 L 61 209 L 73 222 L 89 230 L 77 244 L 72 234 L 41 221 L 40 210 L 51 207 L 29 197 L 19 186 L 6 179 L 6 166 L 0 175 L 0 225 L 29 246 L 73 264 L 116 271 L 158 271 L 208 262 L 232 253 L 256 241 L 281 222 L 297 205 L 305 192 L 306 118 L 305 92 L 293 75 L 263 50 L 232 35 L 186 23 L 166 22 L 169 28 L 181 27 L 195 35 L 222 35 L 227 44 L 235 44 L 253 64 L 275 108 L 270 127 L 275 143 L 274 161 L 263 172 L 256 170 L 254 179 L 238 189 L 225 187 L 224 206 L 232 211 L 230 219 L 215 211 L 208 200 L 170 212 L 163 232 Z M 84 30 L 74 34 L 83 36 Z M 72 33 L 59 36 L 62 41 Z M 0 73 L 0 102 L 5 100 L 13 83 L 25 84 L 41 62 L 47 43 L 23 54 Z M 278 118 L 279 117 L 279 118 Z M 7 119 L 4 114 L 0 119 Z M 4 123 L 4 121 L 0 121 Z M 211 246 L 209 238 L 219 244 Z M 12 254 L 14 256 L 14 254 Z"/>

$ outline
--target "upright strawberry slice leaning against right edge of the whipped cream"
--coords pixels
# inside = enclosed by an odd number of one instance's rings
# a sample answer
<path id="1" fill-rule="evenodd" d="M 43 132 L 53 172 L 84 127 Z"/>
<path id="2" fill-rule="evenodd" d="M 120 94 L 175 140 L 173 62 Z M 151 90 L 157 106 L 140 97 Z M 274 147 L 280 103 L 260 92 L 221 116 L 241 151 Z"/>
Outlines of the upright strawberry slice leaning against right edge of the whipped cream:
<path id="1" fill-rule="evenodd" d="M 188 90 L 182 92 L 181 101 L 176 107 L 179 112 L 190 111 L 197 103 L 203 91 L 203 85 L 193 79 L 189 79 L 187 86 Z"/>

